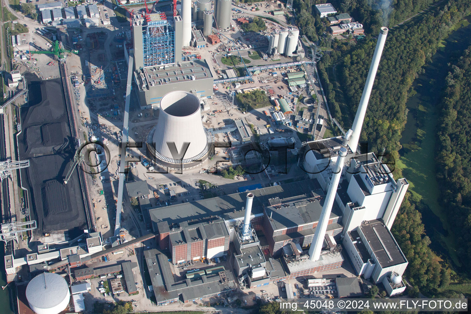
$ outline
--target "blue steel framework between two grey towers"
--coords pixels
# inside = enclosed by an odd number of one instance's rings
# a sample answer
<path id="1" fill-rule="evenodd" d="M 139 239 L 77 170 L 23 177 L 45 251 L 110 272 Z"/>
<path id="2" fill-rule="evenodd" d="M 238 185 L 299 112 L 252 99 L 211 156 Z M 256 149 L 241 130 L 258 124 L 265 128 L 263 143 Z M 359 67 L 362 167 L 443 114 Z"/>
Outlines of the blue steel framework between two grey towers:
<path id="1" fill-rule="evenodd" d="M 144 66 L 175 63 L 175 31 L 166 20 L 147 22 L 142 35 Z"/>

